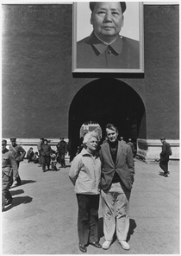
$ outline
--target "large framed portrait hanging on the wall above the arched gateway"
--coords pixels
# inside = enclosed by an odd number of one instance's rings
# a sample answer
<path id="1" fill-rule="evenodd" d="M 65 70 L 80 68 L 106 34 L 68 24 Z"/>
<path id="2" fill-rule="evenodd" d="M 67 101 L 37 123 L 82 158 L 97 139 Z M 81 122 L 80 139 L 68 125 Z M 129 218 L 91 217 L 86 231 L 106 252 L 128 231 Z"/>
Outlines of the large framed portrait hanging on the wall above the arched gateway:
<path id="1" fill-rule="evenodd" d="M 72 72 L 144 73 L 143 3 L 73 3 Z"/>

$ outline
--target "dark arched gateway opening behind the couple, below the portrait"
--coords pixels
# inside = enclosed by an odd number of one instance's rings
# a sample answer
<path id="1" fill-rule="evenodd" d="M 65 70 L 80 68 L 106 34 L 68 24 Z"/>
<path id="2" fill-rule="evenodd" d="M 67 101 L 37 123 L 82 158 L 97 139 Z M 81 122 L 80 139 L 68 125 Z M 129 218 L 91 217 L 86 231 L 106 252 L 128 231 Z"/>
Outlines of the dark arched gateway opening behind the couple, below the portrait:
<path id="1" fill-rule="evenodd" d="M 99 124 L 105 136 L 105 125 L 113 123 L 126 141 L 146 138 L 145 106 L 138 93 L 128 84 L 115 79 L 98 79 L 81 88 L 69 110 L 69 138 L 75 156 L 81 125 L 87 120 Z M 72 158 L 71 157 L 71 158 Z"/>

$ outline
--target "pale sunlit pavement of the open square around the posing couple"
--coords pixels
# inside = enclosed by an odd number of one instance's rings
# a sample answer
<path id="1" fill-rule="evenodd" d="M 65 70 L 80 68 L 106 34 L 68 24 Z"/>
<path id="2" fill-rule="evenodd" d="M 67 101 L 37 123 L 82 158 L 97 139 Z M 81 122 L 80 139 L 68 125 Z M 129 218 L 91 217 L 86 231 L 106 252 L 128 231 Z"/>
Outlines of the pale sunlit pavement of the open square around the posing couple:
<path id="1" fill-rule="evenodd" d="M 59 166 L 59 165 L 58 165 Z M 170 177 L 159 164 L 135 160 L 130 198 L 129 251 L 115 240 L 109 250 L 88 246 L 78 250 L 78 207 L 69 167 L 42 172 L 38 164 L 21 163 L 22 186 L 10 189 L 13 203 L 2 213 L 3 254 L 178 254 L 179 165 L 169 164 Z M 99 210 L 100 243 L 103 212 Z"/>

